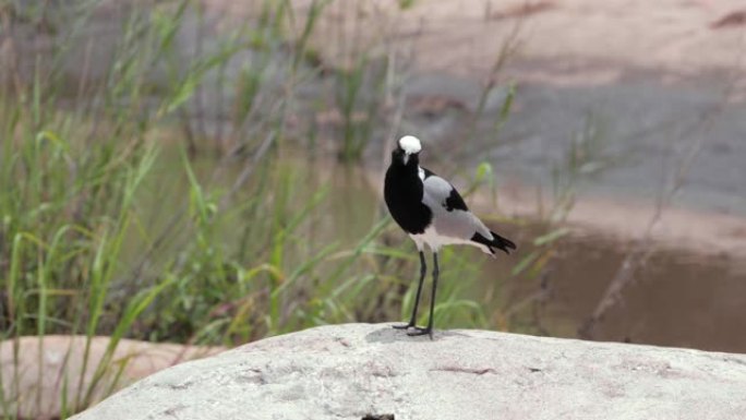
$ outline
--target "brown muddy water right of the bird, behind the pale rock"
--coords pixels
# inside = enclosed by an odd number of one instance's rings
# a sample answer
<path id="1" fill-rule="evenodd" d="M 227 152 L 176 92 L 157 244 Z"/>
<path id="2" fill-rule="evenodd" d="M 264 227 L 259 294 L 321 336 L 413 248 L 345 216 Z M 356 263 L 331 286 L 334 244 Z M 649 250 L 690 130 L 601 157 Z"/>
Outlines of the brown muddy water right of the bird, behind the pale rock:
<path id="1" fill-rule="evenodd" d="M 548 298 L 530 308 L 538 311 L 540 325 L 534 325 L 537 319 L 529 310 L 514 322 L 533 333 L 578 337 L 629 248 L 601 236 L 563 239 L 543 278 Z M 506 259 L 490 262 L 485 272 L 506 273 L 508 264 Z M 743 261 L 657 250 L 633 278 L 621 300 L 595 324 L 593 339 L 746 351 Z M 540 290 L 538 280 L 510 281 L 508 300 L 519 302 Z"/>

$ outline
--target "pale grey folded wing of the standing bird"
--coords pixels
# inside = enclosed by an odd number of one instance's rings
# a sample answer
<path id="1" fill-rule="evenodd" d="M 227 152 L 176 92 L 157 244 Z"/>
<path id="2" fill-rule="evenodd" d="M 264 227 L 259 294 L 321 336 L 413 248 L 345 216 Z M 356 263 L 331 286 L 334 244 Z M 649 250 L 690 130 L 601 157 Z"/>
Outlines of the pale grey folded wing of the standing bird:
<path id="1" fill-rule="evenodd" d="M 492 238 L 490 229 L 469 212 L 461 195 L 448 181 L 425 169 L 422 183 L 422 202 L 433 212 L 437 233 L 462 240 L 471 239 L 477 232 Z"/>

